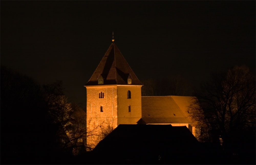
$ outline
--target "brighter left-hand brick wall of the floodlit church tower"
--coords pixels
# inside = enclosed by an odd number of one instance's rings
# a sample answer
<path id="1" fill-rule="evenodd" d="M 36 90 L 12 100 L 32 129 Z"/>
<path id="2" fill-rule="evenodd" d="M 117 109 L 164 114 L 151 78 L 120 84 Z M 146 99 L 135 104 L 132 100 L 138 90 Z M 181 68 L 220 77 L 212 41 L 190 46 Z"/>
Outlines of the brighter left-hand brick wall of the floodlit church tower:
<path id="1" fill-rule="evenodd" d="M 86 86 L 87 89 L 87 144 L 92 148 L 100 140 L 101 130 L 106 126 L 117 127 L 117 87 Z M 99 93 L 104 98 L 99 98 Z M 102 106 L 103 112 L 100 107 Z"/>

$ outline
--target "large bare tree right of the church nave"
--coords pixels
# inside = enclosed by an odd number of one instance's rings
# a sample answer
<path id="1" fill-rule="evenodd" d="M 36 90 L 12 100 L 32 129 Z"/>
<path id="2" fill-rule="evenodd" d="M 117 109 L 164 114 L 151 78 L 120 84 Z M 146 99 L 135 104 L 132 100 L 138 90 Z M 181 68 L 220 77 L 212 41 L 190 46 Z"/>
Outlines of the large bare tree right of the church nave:
<path id="1" fill-rule="evenodd" d="M 219 141 L 227 152 L 234 150 L 242 136 L 255 136 L 255 75 L 246 66 L 212 74 L 190 111 L 201 127 L 199 140 Z"/>

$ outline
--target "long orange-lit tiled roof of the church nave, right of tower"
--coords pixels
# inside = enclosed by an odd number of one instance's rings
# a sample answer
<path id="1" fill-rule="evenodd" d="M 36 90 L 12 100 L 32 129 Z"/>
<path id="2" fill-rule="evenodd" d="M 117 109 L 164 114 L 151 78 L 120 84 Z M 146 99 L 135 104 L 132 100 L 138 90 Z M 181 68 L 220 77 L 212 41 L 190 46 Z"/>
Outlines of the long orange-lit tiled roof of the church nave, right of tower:
<path id="1" fill-rule="evenodd" d="M 141 97 L 142 119 L 146 123 L 192 123 L 186 96 L 144 96 Z M 175 114 L 175 115 L 174 115 Z"/>

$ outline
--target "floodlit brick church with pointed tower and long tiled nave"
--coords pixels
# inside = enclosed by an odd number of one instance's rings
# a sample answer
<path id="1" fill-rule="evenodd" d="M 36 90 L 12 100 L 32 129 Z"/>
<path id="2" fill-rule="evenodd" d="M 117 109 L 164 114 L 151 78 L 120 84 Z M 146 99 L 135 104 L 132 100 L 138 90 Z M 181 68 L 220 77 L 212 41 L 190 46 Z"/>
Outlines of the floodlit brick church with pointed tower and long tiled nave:
<path id="1" fill-rule="evenodd" d="M 94 148 L 104 130 L 111 131 L 120 124 L 186 126 L 196 136 L 196 124 L 188 109 L 194 97 L 141 96 L 142 85 L 116 44 L 111 43 L 85 84 L 88 146 Z"/>

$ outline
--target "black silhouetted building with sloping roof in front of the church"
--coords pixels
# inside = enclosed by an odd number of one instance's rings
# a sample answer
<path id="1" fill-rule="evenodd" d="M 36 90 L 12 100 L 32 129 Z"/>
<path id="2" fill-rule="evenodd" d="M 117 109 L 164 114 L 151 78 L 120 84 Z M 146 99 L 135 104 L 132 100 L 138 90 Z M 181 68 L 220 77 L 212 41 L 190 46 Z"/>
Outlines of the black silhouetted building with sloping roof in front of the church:
<path id="1" fill-rule="evenodd" d="M 190 164 L 203 152 L 186 126 L 142 124 L 119 125 L 93 149 L 96 164 Z"/>

